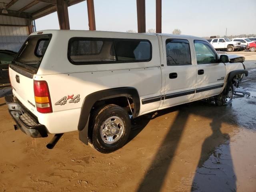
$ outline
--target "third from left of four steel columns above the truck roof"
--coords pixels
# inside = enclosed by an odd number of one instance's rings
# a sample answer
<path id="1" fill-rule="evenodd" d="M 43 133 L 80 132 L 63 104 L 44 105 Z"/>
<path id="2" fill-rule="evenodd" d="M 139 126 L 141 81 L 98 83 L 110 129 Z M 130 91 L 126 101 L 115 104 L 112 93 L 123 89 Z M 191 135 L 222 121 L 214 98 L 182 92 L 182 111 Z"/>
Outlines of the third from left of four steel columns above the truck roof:
<path id="1" fill-rule="evenodd" d="M 138 33 L 146 32 L 145 0 L 137 0 Z"/>

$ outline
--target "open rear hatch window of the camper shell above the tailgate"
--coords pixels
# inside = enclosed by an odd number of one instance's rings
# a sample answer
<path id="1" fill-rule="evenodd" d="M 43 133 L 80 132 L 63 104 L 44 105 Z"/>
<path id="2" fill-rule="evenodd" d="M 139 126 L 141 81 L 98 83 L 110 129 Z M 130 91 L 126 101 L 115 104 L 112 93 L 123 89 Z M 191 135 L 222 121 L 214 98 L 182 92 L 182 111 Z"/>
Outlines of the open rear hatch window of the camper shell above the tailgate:
<path id="1" fill-rule="evenodd" d="M 49 42 L 49 35 L 28 37 L 14 60 L 15 64 L 37 72 Z"/>

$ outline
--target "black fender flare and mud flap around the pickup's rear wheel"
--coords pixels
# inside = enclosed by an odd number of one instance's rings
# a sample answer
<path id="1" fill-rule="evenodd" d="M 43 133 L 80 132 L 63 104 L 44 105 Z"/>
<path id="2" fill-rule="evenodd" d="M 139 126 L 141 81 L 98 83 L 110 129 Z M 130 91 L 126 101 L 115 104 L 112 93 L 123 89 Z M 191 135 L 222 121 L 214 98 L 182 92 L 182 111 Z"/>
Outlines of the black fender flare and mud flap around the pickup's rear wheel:
<path id="1" fill-rule="evenodd" d="M 88 94 L 83 101 L 80 118 L 78 122 L 78 131 L 79 131 L 79 139 L 88 144 L 88 123 L 89 116 L 92 110 L 92 106 L 95 102 L 110 99 L 115 97 L 125 96 L 128 98 L 132 98 L 134 102 L 134 113 L 133 118 L 138 116 L 140 112 L 140 97 L 136 88 L 133 87 L 118 87 L 118 88 L 110 88 L 105 90 L 100 90 L 97 92 L 93 92 Z"/>

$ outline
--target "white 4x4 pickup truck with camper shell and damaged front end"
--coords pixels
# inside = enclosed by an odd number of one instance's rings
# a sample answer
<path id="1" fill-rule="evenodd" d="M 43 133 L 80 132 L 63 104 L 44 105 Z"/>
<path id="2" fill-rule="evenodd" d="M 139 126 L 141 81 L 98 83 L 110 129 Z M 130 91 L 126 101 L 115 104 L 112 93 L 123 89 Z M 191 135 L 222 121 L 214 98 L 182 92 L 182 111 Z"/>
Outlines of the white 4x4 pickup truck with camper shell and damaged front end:
<path id="1" fill-rule="evenodd" d="M 10 64 L 10 114 L 32 137 L 65 132 L 102 153 L 122 147 L 131 118 L 213 97 L 230 104 L 248 75 L 243 57 L 219 56 L 207 40 L 184 35 L 44 30 Z"/>

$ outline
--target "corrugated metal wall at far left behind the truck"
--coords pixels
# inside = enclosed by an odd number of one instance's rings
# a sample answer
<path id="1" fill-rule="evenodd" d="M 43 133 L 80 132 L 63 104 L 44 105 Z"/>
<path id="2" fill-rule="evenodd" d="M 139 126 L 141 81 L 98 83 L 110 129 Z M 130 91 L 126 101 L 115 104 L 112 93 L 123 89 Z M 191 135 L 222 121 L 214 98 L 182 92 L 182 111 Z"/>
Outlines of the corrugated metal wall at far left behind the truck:
<path id="1" fill-rule="evenodd" d="M 0 15 L 0 49 L 18 51 L 27 36 L 26 18 Z"/>

